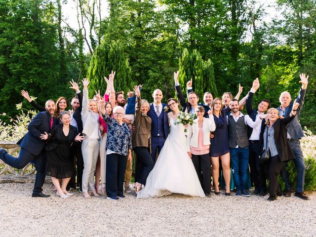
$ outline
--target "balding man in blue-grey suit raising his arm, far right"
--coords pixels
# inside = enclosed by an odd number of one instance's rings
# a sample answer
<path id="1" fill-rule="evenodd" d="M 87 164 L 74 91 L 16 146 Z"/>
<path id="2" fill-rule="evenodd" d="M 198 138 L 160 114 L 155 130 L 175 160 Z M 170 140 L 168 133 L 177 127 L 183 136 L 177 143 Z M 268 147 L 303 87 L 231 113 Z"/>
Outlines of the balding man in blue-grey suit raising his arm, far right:
<path id="1" fill-rule="evenodd" d="M 297 108 L 296 117 L 287 125 L 287 140 L 290 147 L 295 155 L 294 163 L 297 170 L 297 183 L 295 196 L 302 199 L 308 200 L 309 197 L 304 194 L 304 183 L 305 183 L 305 163 L 303 158 L 303 153 L 301 150 L 300 139 L 304 136 L 303 129 L 300 124 L 301 110 L 304 104 L 304 97 L 306 94 L 306 88 L 308 84 L 308 76 L 305 74 L 300 74 L 300 82 L 302 83 L 300 92 L 297 96 L 296 102 L 299 103 Z M 290 93 L 283 91 L 280 95 L 279 101 L 281 103 L 280 107 L 277 108 L 280 117 L 288 117 L 292 111 L 293 102 Z M 288 173 L 285 169 L 286 164 L 282 169 L 282 178 L 285 182 L 285 191 L 283 193 L 284 197 L 291 197 L 291 184 L 289 181 Z"/>

